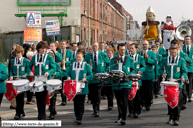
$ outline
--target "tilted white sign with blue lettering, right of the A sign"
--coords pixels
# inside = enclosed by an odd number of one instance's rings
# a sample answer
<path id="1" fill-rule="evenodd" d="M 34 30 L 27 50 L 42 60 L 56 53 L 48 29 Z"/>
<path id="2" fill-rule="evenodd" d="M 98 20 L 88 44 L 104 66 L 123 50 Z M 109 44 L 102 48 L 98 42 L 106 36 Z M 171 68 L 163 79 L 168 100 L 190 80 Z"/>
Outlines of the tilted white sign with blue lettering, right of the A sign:
<path id="1" fill-rule="evenodd" d="M 45 21 L 47 36 L 60 35 L 60 23 L 59 20 Z"/>

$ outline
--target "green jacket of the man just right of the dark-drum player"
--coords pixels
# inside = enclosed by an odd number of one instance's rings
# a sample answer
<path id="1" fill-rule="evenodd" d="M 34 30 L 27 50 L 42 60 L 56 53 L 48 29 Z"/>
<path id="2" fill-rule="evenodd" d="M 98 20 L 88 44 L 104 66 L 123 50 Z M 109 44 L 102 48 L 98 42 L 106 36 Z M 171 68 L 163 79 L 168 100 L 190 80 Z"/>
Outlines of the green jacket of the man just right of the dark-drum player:
<path id="1" fill-rule="evenodd" d="M 143 58 L 143 56 L 136 54 L 135 59 L 133 59 L 133 62 L 134 62 L 136 73 L 138 71 L 141 71 L 143 75 L 143 73 L 145 72 L 145 68 L 146 68 L 145 59 Z M 141 80 L 139 81 L 139 85 L 142 86 Z"/>

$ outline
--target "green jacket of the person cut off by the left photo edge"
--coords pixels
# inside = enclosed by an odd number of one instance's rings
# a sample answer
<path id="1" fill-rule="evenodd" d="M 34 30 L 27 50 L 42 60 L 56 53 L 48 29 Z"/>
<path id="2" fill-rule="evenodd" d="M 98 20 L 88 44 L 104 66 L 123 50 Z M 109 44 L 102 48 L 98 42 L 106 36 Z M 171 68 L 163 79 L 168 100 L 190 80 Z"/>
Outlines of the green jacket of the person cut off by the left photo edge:
<path id="1" fill-rule="evenodd" d="M 7 66 L 0 63 L 0 93 L 7 92 L 5 80 L 8 78 Z"/>

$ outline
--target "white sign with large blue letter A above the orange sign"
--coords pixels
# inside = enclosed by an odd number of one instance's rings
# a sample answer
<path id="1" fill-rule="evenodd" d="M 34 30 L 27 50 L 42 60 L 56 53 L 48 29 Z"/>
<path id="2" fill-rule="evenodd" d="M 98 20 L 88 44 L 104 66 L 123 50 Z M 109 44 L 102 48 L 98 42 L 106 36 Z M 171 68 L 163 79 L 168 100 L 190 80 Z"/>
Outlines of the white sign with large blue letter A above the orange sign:
<path id="1" fill-rule="evenodd" d="M 27 27 L 41 27 L 41 12 L 27 12 Z"/>

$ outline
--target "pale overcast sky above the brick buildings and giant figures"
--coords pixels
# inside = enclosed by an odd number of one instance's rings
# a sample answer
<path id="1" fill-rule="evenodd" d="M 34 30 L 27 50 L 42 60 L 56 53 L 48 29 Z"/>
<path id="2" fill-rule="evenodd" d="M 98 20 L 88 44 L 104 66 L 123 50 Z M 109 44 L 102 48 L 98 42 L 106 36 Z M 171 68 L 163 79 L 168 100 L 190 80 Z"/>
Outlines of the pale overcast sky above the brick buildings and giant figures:
<path id="1" fill-rule="evenodd" d="M 145 21 L 145 14 L 151 6 L 156 20 L 165 21 L 167 15 L 172 16 L 174 26 L 178 26 L 182 17 L 193 20 L 193 0 L 117 0 L 137 20 L 139 25 Z"/>

